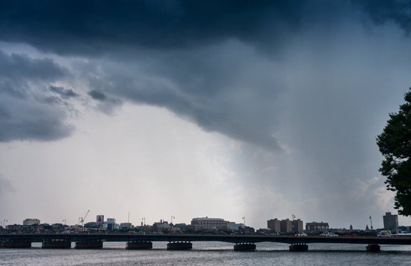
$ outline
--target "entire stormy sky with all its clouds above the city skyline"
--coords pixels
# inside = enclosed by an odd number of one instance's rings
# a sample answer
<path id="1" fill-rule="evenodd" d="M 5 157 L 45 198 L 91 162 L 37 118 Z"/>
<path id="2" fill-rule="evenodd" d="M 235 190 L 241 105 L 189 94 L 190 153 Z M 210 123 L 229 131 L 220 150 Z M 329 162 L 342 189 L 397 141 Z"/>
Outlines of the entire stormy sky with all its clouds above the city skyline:
<path id="1" fill-rule="evenodd" d="M 410 30 L 401 0 L 1 1 L 0 220 L 382 227 Z"/>

